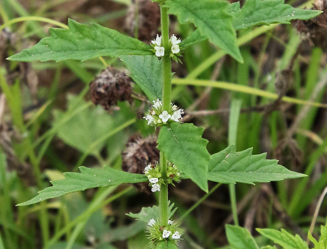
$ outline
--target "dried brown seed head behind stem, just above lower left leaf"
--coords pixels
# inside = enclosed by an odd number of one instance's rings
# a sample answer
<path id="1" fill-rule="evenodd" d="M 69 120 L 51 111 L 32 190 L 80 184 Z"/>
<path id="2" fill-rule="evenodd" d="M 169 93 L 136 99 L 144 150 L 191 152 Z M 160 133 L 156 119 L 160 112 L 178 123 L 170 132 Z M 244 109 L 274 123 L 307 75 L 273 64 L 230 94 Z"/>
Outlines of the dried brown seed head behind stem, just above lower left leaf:
<path id="1" fill-rule="evenodd" d="M 122 152 L 122 169 L 129 173 L 144 174 L 148 164 L 155 165 L 159 161 L 159 150 L 157 149 L 157 137 L 149 136 L 142 138 L 134 134 L 129 137 L 126 149 Z M 150 193 L 148 182 L 136 183 L 134 186 L 142 192 Z"/>

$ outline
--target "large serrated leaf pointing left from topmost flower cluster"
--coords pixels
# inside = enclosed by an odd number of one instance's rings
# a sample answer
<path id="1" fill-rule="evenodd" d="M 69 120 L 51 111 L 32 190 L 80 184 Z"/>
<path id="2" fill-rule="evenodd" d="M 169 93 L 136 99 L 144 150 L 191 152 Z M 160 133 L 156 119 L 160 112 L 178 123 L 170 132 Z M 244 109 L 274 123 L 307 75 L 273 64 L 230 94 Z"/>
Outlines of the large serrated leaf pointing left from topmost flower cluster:
<path id="1" fill-rule="evenodd" d="M 114 29 L 92 23 L 91 26 L 68 20 L 69 29 L 50 28 L 51 37 L 40 40 L 31 48 L 10 56 L 16 61 L 87 60 L 97 56 L 122 54 L 152 55 L 150 45 Z"/>

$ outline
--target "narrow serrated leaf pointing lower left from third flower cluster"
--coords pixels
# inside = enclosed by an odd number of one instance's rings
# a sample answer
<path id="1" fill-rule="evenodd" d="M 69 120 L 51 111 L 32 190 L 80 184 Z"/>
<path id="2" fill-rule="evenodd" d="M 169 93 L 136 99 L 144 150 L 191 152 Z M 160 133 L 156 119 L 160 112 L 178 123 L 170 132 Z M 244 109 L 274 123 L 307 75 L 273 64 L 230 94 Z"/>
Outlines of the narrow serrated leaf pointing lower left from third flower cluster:
<path id="1" fill-rule="evenodd" d="M 145 175 L 131 174 L 128 172 L 104 168 L 79 167 L 81 173 L 66 172 L 65 179 L 51 181 L 51 187 L 39 192 L 29 201 L 18 204 L 17 206 L 26 206 L 46 199 L 58 197 L 64 194 L 84 191 L 86 189 L 119 185 L 121 183 L 137 183 L 148 181 Z"/>

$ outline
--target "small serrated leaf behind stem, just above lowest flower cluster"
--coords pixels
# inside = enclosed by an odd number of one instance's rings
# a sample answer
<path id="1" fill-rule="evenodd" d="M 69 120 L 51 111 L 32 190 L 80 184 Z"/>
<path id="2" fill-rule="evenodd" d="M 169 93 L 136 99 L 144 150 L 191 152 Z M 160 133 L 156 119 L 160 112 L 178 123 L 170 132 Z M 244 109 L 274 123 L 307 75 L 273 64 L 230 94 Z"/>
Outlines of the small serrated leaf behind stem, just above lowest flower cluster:
<path id="1" fill-rule="evenodd" d="M 176 212 L 176 209 L 174 208 L 174 203 L 170 205 L 170 201 L 168 201 L 168 219 L 170 219 L 174 213 Z M 144 221 L 146 223 L 149 222 L 151 219 L 157 219 L 160 216 L 160 209 L 158 206 L 152 206 L 152 207 L 146 207 L 142 208 L 142 210 L 139 213 L 127 213 L 129 217 L 132 217 L 137 220 Z"/>

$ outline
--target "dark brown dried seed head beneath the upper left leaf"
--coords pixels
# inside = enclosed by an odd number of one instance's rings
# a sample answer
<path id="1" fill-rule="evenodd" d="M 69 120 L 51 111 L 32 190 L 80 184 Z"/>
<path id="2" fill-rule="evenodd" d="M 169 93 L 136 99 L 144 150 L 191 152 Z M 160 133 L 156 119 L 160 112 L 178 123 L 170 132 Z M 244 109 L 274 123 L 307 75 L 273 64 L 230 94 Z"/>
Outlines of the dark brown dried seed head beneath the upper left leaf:
<path id="1" fill-rule="evenodd" d="M 91 101 L 100 104 L 106 111 L 111 111 L 117 101 L 132 103 L 132 79 L 126 72 L 108 67 L 90 83 Z"/>

